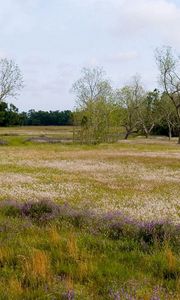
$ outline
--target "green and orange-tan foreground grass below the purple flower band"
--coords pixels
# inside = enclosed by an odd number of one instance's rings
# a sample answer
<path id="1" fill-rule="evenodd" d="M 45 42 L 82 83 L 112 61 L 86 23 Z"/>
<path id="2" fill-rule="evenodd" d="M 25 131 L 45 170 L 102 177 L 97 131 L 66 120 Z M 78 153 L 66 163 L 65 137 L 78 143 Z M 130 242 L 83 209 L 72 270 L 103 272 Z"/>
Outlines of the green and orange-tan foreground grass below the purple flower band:
<path id="1" fill-rule="evenodd" d="M 77 299 L 116 299 L 111 291 L 122 288 L 135 299 L 151 299 L 155 289 L 158 299 L 178 299 L 177 245 L 144 249 L 128 234 L 112 239 L 70 221 L 1 216 L 1 299 L 63 299 L 70 290 Z"/>

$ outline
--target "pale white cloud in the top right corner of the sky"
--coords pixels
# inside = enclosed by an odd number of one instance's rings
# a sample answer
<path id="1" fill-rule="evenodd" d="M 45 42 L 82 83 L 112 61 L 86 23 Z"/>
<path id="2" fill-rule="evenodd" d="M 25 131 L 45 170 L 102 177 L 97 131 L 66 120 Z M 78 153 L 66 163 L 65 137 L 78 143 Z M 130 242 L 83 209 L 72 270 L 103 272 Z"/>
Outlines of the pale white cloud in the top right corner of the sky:
<path id="1" fill-rule="evenodd" d="M 128 38 L 156 37 L 179 44 L 180 8 L 167 0 L 126 0 L 119 5 L 114 31 Z"/>

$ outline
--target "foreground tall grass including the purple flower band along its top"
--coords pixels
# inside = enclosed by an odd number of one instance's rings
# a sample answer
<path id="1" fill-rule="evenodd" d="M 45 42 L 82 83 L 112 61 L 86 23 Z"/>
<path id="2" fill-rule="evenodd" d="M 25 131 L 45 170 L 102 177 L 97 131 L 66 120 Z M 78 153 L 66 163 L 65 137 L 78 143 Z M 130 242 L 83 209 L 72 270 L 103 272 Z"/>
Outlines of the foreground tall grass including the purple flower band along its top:
<path id="1" fill-rule="evenodd" d="M 0 299 L 178 299 L 179 226 L 68 205 L 54 214 L 50 201 L 35 214 L 25 213 L 32 201 L 9 205 L 0 208 Z"/>

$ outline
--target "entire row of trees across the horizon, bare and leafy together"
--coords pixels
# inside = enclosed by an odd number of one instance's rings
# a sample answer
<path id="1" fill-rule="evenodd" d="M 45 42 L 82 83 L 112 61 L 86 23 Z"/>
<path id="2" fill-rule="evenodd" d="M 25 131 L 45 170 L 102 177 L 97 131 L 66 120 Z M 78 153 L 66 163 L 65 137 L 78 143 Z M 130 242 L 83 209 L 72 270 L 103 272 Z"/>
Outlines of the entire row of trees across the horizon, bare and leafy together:
<path id="1" fill-rule="evenodd" d="M 81 143 L 111 142 L 124 135 L 166 134 L 178 137 L 180 144 L 180 69 L 179 56 L 172 48 L 155 51 L 160 90 L 146 90 L 136 75 L 128 84 L 113 89 L 103 68 L 83 68 L 73 84 L 76 110 L 19 113 L 8 97 L 23 88 L 19 67 L 0 60 L 0 125 L 74 125 L 74 140 Z"/>

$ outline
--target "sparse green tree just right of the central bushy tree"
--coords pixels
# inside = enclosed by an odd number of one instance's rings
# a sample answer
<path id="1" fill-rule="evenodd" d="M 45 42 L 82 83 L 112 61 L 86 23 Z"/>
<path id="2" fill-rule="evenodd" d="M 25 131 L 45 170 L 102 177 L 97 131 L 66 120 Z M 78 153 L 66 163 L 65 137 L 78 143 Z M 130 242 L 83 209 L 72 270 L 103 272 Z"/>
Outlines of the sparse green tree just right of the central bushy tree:
<path id="1" fill-rule="evenodd" d="M 136 75 L 130 85 L 116 92 L 116 98 L 124 108 L 121 125 L 126 130 L 125 139 L 138 131 L 145 133 L 148 138 L 159 118 L 159 91 L 155 89 L 153 92 L 146 92 L 140 77 Z"/>

